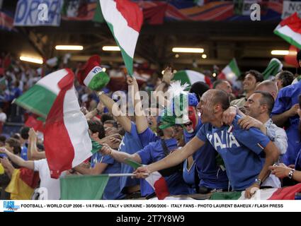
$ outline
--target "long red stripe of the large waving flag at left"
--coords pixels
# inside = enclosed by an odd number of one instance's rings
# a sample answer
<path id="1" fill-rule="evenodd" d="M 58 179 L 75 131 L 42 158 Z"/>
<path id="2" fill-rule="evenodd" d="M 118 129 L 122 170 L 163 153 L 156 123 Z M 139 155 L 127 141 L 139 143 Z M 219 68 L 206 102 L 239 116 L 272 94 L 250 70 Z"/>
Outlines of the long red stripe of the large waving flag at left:
<path id="1" fill-rule="evenodd" d="M 72 88 L 74 74 L 70 69 L 65 69 L 69 73 L 59 81 L 61 88 L 57 99 L 52 105 L 46 119 L 44 130 L 44 144 L 47 162 L 52 178 L 59 178 L 61 172 L 72 168 L 74 159 L 74 147 L 64 125 L 64 97 L 67 90 Z"/>

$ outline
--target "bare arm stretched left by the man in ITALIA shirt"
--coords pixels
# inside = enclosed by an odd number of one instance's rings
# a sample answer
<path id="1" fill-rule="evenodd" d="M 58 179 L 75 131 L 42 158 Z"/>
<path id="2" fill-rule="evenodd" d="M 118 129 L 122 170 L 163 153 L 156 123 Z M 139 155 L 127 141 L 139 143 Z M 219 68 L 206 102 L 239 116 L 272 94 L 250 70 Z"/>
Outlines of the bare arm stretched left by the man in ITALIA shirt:
<path id="1" fill-rule="evenodd" d="M 145 178 L 146 174 L 166 169 L 178 165 L 179 163 L 186 160 L 187 157 L 193 155 L 198 148 L 204 145 L 204 141 L 201 141 L 198 137 L 194 137 L 189 141 L 181 150 L 176 150 L 170 155 L 164 157 L 164 159 L 154 162 L 146 167 L 139 167 L 134 173 L 137 178 Z"/>

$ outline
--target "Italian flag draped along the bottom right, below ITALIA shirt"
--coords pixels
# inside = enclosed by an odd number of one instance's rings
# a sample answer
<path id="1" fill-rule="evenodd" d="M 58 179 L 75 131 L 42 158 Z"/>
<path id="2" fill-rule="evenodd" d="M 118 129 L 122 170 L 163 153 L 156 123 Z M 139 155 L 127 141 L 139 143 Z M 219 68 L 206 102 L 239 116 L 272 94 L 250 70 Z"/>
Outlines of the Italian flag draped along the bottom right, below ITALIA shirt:
<path id="1" fill-rule="evenodd" d="M 293 200 L 295 199 L 295 194 L 301 192 L 301 183 L 295 186 L 288 186 L 280 189 L 259 189 L 250 198 L 251 200 Z M 235 192 L 216 192 L 212 194 L 212 200 L 246 200 L 248 198 L 244 197 L 245 191 L 235 191 Z"/>

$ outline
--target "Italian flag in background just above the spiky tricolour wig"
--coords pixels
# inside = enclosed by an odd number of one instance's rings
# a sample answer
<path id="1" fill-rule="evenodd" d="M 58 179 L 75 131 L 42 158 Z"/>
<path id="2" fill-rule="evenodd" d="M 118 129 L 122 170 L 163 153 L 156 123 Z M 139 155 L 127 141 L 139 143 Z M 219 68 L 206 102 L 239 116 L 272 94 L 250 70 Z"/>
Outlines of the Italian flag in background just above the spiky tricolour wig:
<path id="1" fill-rule="evenodd" d="M 191 86 L 196 82 L 203 82 L 207 83 L 209 86 L 211 85 L 210 78 L 205 76 L 203 73 L 191 70 L 177 71 L 174 74 L 174 80 L 181 81 L 181 85 L 188 83 Z"/>

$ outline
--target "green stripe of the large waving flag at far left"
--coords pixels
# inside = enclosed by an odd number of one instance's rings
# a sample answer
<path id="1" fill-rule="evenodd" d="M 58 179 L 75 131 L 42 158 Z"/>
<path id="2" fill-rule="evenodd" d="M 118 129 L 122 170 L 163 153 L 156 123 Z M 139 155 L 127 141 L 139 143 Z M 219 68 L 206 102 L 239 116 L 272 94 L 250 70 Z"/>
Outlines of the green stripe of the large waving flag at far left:
<path id="1" fill-rule="evenodd" d="M 52 93 L 52 91 L 42 85 L 35 84 L 26 93 L 14 100 L 13 103 L 47 118 L 47 114 L 50 112 L 56 98 L 57 95 L 55 93 Z"/>

